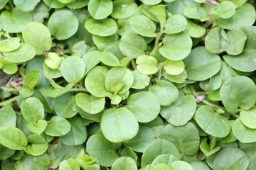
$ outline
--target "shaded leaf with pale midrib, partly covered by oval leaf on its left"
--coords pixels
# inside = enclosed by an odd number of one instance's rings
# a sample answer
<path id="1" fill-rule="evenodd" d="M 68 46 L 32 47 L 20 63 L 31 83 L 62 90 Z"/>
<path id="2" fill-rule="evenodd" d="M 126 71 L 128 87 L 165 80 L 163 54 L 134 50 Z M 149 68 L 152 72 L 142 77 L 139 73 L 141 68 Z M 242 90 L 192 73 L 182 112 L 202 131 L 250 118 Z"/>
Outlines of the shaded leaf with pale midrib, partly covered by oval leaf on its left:
<path id="1" fill-rule="evenodd" d="M 82 125 L 82 119 L 76 116 L 68 119 L 68 122 L 71 129 L 66 135 L 61 136 L 60 140 L 68 146 L 82 145 L 87 139 L 86 127 Z"/>

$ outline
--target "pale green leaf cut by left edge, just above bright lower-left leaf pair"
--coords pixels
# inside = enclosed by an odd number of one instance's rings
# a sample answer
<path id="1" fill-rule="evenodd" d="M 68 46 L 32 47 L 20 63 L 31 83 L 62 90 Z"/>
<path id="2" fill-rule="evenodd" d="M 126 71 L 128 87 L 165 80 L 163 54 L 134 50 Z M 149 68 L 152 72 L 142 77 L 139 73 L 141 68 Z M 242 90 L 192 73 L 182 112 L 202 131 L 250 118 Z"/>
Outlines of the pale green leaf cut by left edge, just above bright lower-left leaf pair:
<path id="1" fill-rule="evenodd" d="M 11 106 L 0 109 L 0 130 L 8 126 L 16 127 L 16 113 Z"/>

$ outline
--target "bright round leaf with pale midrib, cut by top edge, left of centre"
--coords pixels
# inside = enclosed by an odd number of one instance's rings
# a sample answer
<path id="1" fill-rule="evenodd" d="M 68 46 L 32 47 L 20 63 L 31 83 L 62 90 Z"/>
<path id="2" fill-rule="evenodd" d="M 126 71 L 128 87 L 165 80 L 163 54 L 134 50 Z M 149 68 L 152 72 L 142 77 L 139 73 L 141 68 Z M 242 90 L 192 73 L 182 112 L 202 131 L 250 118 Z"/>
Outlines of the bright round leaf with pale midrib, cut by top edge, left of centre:
<path id="1" fill-rule="evenodd" d="M 92 18 L 100 20 L 110 16 L 113 11 L 113 3 L 111 0 L 89 1 L 88 11 Z"/>

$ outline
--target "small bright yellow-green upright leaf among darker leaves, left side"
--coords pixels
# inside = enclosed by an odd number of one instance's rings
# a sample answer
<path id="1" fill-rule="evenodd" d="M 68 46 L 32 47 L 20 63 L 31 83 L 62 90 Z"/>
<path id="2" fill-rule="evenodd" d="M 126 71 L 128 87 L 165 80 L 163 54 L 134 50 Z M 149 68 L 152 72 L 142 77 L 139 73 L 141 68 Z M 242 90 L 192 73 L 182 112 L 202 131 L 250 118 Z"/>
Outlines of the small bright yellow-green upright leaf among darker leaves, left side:
<path id="1" fill-rule="evenodd" d="M 29 89 L 33 89 L 41 81 L 41 73 L 37 69 L 33 69 L 25 77 L 25 84 Z"/>

